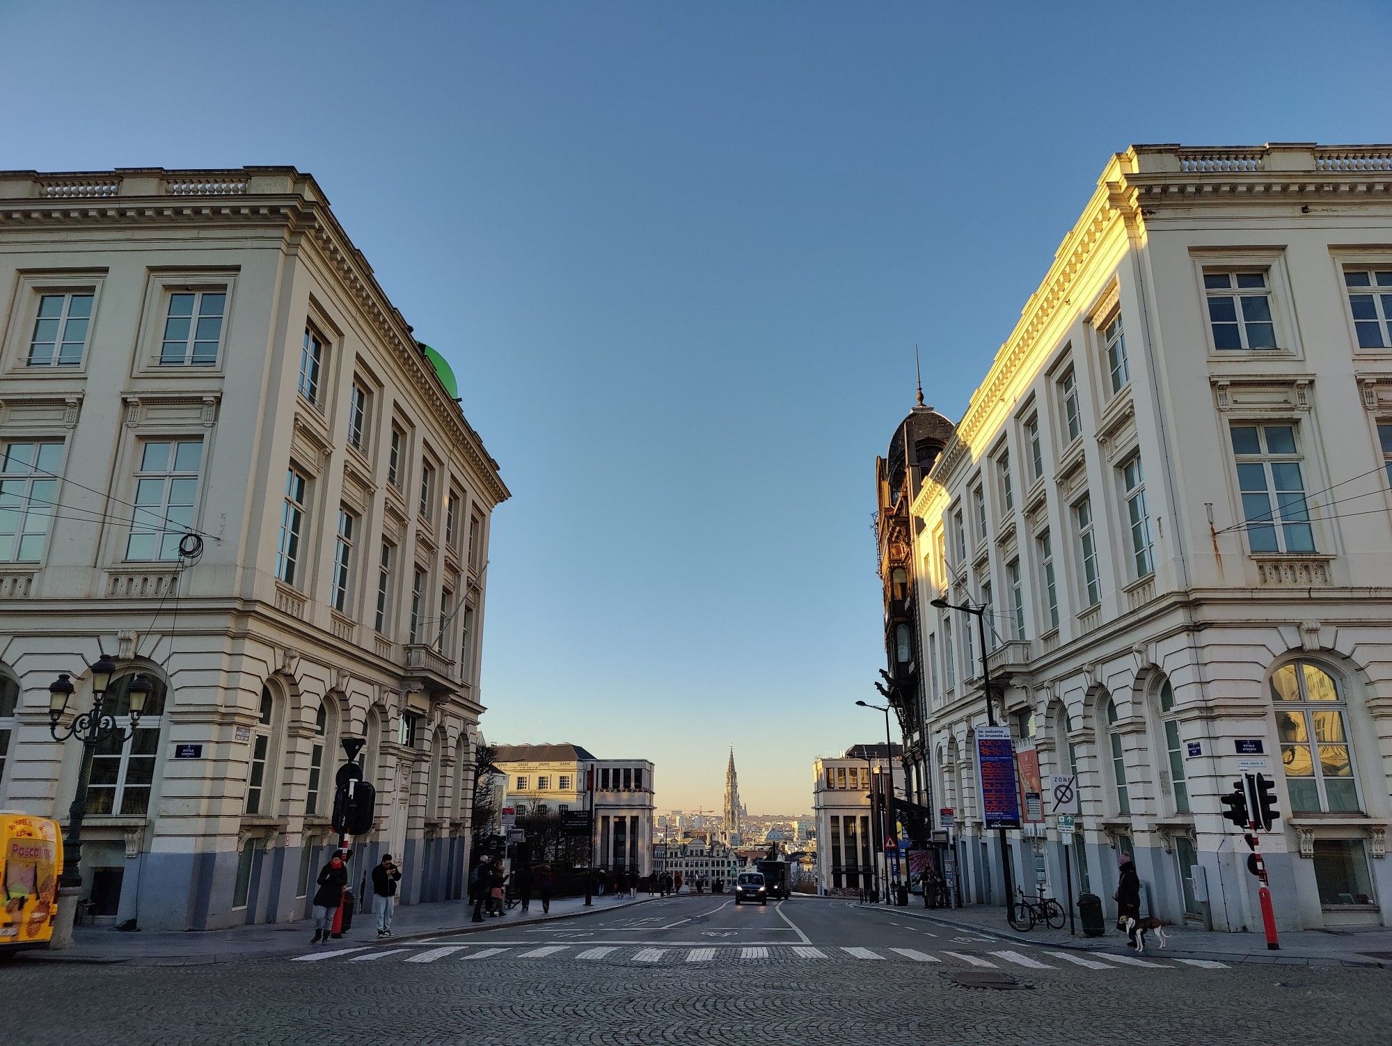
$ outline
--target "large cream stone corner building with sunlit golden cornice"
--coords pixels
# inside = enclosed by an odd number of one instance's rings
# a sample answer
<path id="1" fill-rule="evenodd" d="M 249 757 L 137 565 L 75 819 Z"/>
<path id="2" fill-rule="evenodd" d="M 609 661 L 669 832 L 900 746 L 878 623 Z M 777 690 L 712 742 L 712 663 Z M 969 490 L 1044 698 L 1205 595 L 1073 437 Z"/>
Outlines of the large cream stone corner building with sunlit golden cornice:
<path id="1" fill-rule="evenodd" d="M 1258 929 L 1218 797 L 1276 780 L 1279 924 L 1392 922 L 1392 146 L 1116 154 L 913 502 L 935 807 L 1001 900 L 972 759 L 1076 772 L 1073 890 Z M 1047 797 L 1045 797 L 1047 798 Z M 1062 896 L 1054 818 L 1011 832 Z"/>

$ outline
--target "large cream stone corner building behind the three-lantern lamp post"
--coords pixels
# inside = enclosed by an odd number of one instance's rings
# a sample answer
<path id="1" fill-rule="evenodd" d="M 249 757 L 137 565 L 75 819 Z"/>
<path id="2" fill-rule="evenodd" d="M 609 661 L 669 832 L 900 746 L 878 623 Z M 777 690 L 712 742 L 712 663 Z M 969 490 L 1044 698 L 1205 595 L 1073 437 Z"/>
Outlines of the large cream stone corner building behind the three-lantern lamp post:
<path id="1" fill-rule="evenodd" d="M 74 711 L 100 652 L 159 682 L 93 762 L 96 911 L 301 918 L 341 737 L 379 796 L 354 886 L 390 848 L 406 903 L 462 893 L 508 491 L 436 359 L 309 175 L 0 172 L 0 807 L 65 819 L 57 673 Z"/>

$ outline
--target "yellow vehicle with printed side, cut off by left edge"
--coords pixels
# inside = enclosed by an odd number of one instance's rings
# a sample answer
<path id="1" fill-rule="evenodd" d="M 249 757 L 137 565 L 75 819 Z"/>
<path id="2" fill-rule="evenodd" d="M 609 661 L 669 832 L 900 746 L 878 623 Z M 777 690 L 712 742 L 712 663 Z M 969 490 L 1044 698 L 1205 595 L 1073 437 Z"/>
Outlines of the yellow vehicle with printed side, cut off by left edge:
<path id="1" fill-rule="evenodd" d="M 53 938 L 61 872 L 58 822 L 0 810 L 0 956 Z"/>

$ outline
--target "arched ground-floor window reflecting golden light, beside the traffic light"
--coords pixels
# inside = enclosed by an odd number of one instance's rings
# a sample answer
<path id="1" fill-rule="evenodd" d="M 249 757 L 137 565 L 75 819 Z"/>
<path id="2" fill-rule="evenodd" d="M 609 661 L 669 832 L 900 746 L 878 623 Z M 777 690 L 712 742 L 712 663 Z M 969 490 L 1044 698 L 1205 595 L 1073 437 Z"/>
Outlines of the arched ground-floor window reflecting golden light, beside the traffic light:
<path id="1" fill-rule="evenodd" d="M 1293 661 L 1272 673 L 1271 700 L 1292 812 L 1360 810 L 1339 682 L 1311 661 Z"/>

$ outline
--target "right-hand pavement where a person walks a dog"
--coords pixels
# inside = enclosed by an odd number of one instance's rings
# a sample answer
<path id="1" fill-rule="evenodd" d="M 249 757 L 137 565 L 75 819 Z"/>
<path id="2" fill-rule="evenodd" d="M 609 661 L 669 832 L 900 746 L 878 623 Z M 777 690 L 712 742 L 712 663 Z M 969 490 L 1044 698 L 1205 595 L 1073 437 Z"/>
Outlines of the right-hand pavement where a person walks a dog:
<path id="1" fill-rule="evenodd" d="M 992 938 L 1016 940 L 1025 944 L 1045 947 L 1068 947 L 1083 951 L 1112 951 L 1134 954 L 1128 946 L 1126 935 L 1107 924 L 1102 938 L 1084 938 L 1082 925 L 1070 935 L 1068 926 L 1050 929 L 1037 925 L 1027 933 L 1018 933 L 1005 921 L 1005 911 L 997 907 L 970 906 L 966 908 L 896 908 L 883 904 L 862 904 L 863 908 L 881 908 L 896 915 L 909 915 L 928 922 L 937 922 L 954 929 L 990 933 Z M 1165 949 L 1160 949 L 1155 935 L 1146 942 L 1147 958 L 1162 958 L 1166 954 L 1217 958 L 1226 963 L 1285 963 L 1304 965 L 1308 963 L 1339 963 L 1343 965 L 1384 967 L 1392 969 L 1392 929 L 1386 926 L 1346 928 L 1338 931 L 1288 931 L 1281 935 L 1281 950 L 1267 949 L 1261 933 L 1215 933 L 1192 926 L 1165 926 Z"/>

